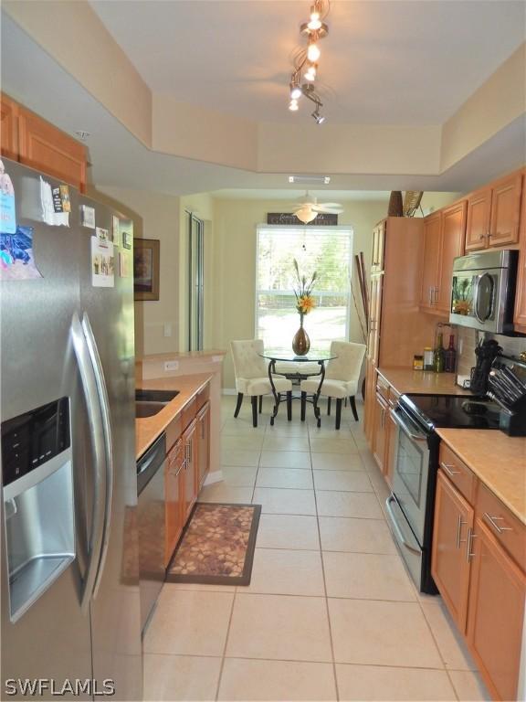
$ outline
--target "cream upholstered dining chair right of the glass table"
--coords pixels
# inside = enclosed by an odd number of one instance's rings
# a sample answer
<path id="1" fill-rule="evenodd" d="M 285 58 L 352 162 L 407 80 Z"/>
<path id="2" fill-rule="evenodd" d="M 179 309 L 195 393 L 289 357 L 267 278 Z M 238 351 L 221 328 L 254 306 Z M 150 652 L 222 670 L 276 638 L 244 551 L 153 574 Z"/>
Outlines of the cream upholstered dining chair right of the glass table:
<path id="1" fill-rule="evenodd" d="M 332 341 L 331 354 L 336 356 L 327 364 L 327 372 L 323 378 L 320 395 L 336 399 L 336 429 L 340 429 L 342 421 L 342 401 L 349 398 L 351 402 L 352 415 L 358 421 L 358 412 L 354 396 L 358 392 L 358 381 L 362 370 L 363 356 L 365 356 L 364 344 L 353 344 L 350 341 Z M 305 407 L 307 395 L 314 395 L 318 391 L 320 379 L 313 377 L 302 380 L 301 390 L 301 419 L 305 419 Z"/>

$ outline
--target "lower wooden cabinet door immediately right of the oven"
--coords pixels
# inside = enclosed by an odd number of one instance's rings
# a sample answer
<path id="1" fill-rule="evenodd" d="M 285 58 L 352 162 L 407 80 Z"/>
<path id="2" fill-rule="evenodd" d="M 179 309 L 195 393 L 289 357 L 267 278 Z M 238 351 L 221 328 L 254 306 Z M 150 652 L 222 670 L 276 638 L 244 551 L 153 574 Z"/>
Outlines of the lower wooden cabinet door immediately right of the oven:
<path id="1" fill-rule="evenodd" d="M 474 514 L 473 507 L 438 471 L 431 574 L 461 632 L 466 630 L 468 612 L 468 534 Z"/>

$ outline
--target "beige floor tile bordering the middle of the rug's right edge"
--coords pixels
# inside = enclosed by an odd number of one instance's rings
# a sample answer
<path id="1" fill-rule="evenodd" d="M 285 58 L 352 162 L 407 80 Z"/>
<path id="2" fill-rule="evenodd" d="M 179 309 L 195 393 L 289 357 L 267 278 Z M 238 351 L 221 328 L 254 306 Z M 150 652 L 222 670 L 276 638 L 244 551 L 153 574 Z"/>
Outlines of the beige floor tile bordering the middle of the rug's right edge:
<path id="1" fill-rule="evenodd" d="M 259 517 L 257 548 L 320 548 L 318 523 L 315 516 L 261 515 Z"/>

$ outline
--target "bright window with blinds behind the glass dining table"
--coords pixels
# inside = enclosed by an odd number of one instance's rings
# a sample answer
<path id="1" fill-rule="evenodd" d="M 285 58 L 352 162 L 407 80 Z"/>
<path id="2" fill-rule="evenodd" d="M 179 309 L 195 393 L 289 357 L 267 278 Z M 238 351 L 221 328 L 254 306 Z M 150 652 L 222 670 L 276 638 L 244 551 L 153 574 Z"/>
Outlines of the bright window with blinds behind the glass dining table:
<path id="1" fill-rule="evenodd" d="M 305 317 L 310 344 L 328 350 L 332 340 L 349 338 L 351 227 L 258 226 L 256 263 L 256 335 L 268 348 L 290 346 L 300 326 L 294 288 L 294 259 L 300 274 L 317 279 L 316 307 Z"/>

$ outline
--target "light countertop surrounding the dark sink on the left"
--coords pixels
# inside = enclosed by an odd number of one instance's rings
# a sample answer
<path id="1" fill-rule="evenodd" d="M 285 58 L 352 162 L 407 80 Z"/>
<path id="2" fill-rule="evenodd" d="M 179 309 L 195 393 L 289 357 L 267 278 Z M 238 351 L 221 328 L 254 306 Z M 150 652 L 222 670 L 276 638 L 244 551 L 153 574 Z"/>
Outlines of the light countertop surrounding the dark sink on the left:
<path id="1" fill-rule="evenodd" d="M 150 380 L 137 380 L 137 388 L 147 390 L 179 390 L 179 394 L 171 400 L 166 407 L 153 417 L 143 417 L 135 420 L 135 456 L 139 458 L 142 453 L 152 445 L 168 424 L 184 409 L 199 390 L 203 389 L 212 375 L 201 373 L 195 376 L 169 376 L 166 378 L 152 378 Z"/>

